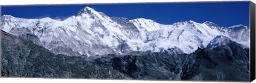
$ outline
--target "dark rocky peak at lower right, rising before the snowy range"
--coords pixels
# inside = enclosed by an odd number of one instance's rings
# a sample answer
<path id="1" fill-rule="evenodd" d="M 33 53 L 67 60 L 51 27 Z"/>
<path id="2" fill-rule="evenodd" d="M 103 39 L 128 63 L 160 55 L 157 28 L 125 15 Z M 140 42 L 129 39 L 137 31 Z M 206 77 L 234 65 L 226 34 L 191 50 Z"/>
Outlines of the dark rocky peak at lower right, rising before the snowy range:
<path id="1" fill-rule="evenodd" d="M 249 81 L 249 69 L 243 59 L 210 49 L 198 49 L 182 67 L 181 79 L 210 81 Z"/>

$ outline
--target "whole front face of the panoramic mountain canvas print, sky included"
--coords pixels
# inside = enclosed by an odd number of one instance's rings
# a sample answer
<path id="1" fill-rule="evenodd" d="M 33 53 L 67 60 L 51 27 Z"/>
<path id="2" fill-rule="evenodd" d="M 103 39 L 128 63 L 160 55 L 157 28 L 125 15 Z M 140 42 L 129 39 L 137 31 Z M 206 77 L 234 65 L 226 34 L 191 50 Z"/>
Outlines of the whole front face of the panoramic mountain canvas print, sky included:
<path id="1" fill-rule="evenodd" d="M 249 1 L 1 9 L 1 77 L 250 81 Z"/>

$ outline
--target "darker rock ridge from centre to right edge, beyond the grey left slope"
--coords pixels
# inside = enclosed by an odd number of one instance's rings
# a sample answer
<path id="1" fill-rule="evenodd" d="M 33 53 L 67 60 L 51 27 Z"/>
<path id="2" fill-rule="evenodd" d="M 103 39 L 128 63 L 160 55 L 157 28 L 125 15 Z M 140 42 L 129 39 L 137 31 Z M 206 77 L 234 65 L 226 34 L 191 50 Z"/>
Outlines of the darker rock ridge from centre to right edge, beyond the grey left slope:
<path id="1" fill-rule="evenodd" d="M 249 81 L 248 63 L 229 54 L 198 48 L 191 54 L 132 52 L 91 58 L 132 79 Z"/>

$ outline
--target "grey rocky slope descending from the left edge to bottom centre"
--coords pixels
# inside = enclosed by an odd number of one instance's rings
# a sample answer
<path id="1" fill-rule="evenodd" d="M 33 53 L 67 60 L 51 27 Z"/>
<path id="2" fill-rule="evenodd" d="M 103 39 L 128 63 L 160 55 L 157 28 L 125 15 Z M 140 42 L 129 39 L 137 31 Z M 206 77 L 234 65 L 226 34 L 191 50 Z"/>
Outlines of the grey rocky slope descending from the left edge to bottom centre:
<path id="1" fill-rule="evenodd" d="M 3 77 L 130 79 L 111 67 L 79 57 L 54 55 L 4 31 L 1 35 Z"/>

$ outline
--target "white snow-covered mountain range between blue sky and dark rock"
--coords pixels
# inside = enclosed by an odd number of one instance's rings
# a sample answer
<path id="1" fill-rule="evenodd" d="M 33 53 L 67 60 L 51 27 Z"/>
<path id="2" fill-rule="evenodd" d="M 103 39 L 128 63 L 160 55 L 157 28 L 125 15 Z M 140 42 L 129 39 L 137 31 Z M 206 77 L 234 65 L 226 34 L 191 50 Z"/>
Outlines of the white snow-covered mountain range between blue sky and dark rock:
<path id="1" fill-rule="evenodd" d="M 191 53 L 206 45 L 217 35 L 250 47 L 250 29 L 236 25 L 222 27 L 212 22 L 194 21 L 159 24 L 148 19 L 129 20 L 109 17 L 102 12 L 84 7 L 66 20 L 21 19 L 10 15 L 1 17 L 1 29 L 11 34 L 20 28 L 30 30 L 39 43 L 55 54 L 95 56 L 124 54 L 131 51 Z M 23 33 L 20 33 L 23 34 Z"/>

